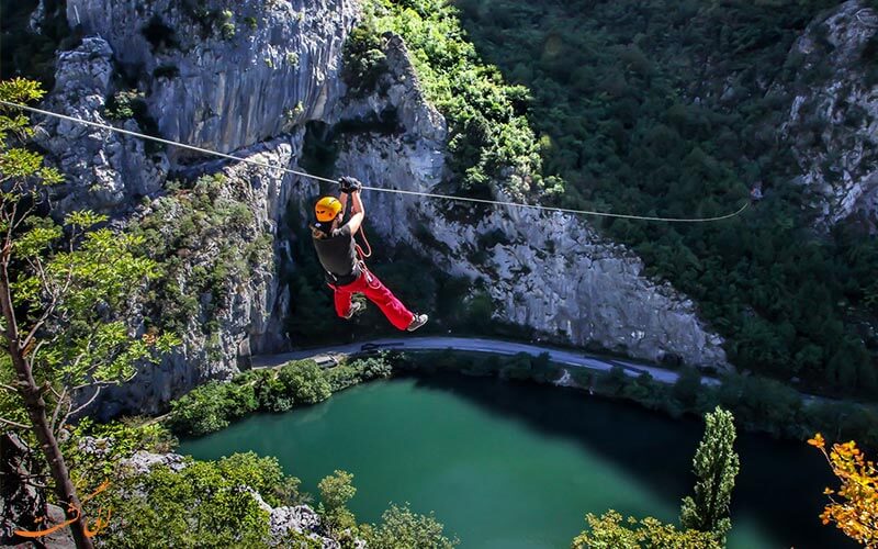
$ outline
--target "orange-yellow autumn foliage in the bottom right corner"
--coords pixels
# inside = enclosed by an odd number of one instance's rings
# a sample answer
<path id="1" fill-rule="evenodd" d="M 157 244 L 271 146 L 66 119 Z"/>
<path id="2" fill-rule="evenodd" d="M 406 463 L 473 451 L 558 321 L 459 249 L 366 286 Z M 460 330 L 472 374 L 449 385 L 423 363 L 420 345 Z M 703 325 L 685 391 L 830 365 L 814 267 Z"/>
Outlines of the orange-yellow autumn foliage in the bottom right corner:
<path id="1" fill-rule="evenodd" d="M 820 433 L 808 444 L 823 452 L 832 472 L 842 481 L 838 490 L 828 488 L 823 491 L 830 497 L 830 503 L 820 514 L 823 524 L 835 523 L 845 535 L 866 547 L 878 546 L 878 470 L 875 462 L 867 461 L 853 440 L 832 445 L 829 452 Z"/>

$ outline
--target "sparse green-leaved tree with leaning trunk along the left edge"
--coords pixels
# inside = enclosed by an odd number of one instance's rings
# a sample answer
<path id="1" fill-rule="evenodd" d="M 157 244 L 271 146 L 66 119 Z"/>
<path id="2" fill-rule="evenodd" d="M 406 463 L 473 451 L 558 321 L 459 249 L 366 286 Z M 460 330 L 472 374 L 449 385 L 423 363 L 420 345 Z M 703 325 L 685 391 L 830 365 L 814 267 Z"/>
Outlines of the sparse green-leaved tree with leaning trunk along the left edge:
<path id="1" fill-rule="evenodd" d="M 0 82 L 0 99 L 23 103 L 43 97 L 24 79 Z M 101 389 L 134 376 L 134 365 L 168 350 L 175 339 L 134 337 L 111 317 L 132 288 L 154 276 L 137 257 L 137 238 L 109 228 L 92 212 L 72 212 L 63 226 L 38 215 L 61 175 L 21 144 L 33 135 L 26 116 L 0 111 L 0 310 L 2 347 L 0 423 L 31 429 L 77 547 L 92 547 L 77 490 L 56 435 Z M 26 422 L 26 423 L 25 423 Z"/>

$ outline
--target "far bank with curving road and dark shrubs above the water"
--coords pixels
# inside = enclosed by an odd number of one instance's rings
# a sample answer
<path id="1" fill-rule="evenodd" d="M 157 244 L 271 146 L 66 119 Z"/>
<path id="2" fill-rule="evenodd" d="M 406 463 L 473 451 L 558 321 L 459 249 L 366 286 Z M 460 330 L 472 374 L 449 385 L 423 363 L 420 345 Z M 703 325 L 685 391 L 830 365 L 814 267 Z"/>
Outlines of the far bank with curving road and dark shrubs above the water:
<path id="1" fill-rule="evenodd" d="M 814 397 L 799 393 L 778 381 L 733 372 L 706 377 L 688 368 L 662 368 L 618 357 L 584 354 L 582 350 L 543 347 L 520 341 L 462 337 L 415 337 L 341 344 L 320 349 L 256 357 L 257 368 L 284 363 L 315 354 L 337 359 L 362 352 L 385 350 L 393 356 L 426 351 L 418 368 L 460 370 L 463 373 L 500 374 L 505 369 L 514 379 L 579 386 L 592 394 L 637 402 L 673 417 L 700 416 L 717 404 L 735 414 L 745 430 L 765 432 L 776 437 L 807 440 L 817 432 L 832 440 L 854 439 L 862 446 L 878 448 L 878 414 L 874 406 L 857 402 Z M 402 354 L 402 355 L 401 355 Z M 514 359 L 519 366 L 506 368 L 495 359 Z M 525 365 L 524 357 L 530 356 Z M 540 358 L 542 354 L 548 356 Z M 519 356 L 519 358 L 516 358 Z M 465 357 L 457 360 L 452 357 Z M 551 368 L 549 368 L 551 365 Z M 406 367 L 404 363 L 403 368 Z M 559 370 L 563 368 L 566 374 Z"/>

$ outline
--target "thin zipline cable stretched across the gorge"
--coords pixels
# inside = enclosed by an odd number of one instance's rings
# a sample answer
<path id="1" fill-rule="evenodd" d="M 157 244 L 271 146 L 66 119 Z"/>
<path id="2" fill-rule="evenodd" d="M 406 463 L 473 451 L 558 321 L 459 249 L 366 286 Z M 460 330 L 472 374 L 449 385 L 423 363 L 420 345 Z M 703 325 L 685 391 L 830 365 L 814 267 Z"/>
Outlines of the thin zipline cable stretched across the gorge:
<path id="1" fill-rule="evenodd" d="M 326 181 L 328 183 L 338 184 L 338 181 L 336 181 L 334 179 L 327 179 L 325 177 L 313 176 L 313 175 L 304 172 L 304 171 L 297 171 L 297 170 L 294 170 L 294 169 L 284 168 L 283 166 L 272 166 L 270 164 L 260 163 L 258 160 L 250 160 L 249 158 L 241 158 L 239 156 L 227 155 L 225 153 L 219 153 L 219 152 L 216 152 L 216 150 L 211 150 L 211 149 L 202 148 L 202 147 L 195 147 L 193 145 L 187 145 L 184 143 L 179 143 L 179 142 L 176 142 L 176 141 L 162 139 L 161 137 L 155 137 L 155 136 L 151 136 L 151 135 L 146 135 L 146 134 L 137 133 L 137 132 L 132 132 L 130 130 L 124 130 L 122 127 L 115 127 L 115 126 L 111 126 L 111 125 L 108 125 L 108 124 L 101 124 L 101 123 L 98 123 L 98 122 L 91 122 L 91 121 L 88 121 L 88 120 L 77 119 L 75 116 L 68 116 L 66 114 L 59 114 L 57 112 L 44 111 L 42 109 L 36 109 L 34 107 L 29 107 L 29 105 L 25 105 L 25 104 L 13 103 L 13 102 L 3 101 L 3 100 L 0 100 L 0 104 L 7 105 L 7 107 L 11 107 L 11 108 L 14 108 L 14 109 L 21 109 L 23 111 L 33 112 L 33 113 L 36 113 L 36 114 L 43 114 L 45 116 L 52 116 L 52 117 L 56 117 L 56 119 L 60 119 L 60 120 L 66 120 L 68 122 L 74 122 L 74 123 L 77 123 L 77 124 L 85 124 L 87 126 L 99 127 L 101 130 L 108 130 L 110 132 L 131 135 L 133 137 L 137 137 L 137 138 L 140 138 L 140 139 L 147 139 L 147 141 L 153 141 L 153 142 L 156 142 L 156 143 L 161 143 L 162 145 L 169 145 L 169 146 L 172 146 L 172 147 L 179 147 L 179 148 L 184 148 L 184 149 L 188 149 L 188 150 L 194 150 L 195 153 L 201 153 L 203 155 L 216 156 L 216 157 L 219 157 L 219 158 L 227 158 L 227 159 L 234 160 L 236 163 L 250 164 L 250 165 L 254 165 L 254 166 L 259 166 L 260 168 L 277 169 L 277 170 L 281 170 L 281 171 L 288 172 L 288 173 L 293 173 L 293 175 L 296 175 L 296 176 L 306 177 L 306 178 L 309 178 L 309 179 L 315 179 L 317 181 Z M 729 214 L 725 214 L 725 215 L 719 215 L 719 216 L 716 216 L 716 217 L 661 217 L 661 216 L 653 216 L 653 215 L 632 215 L 632 214 L 610 213 L 610 212 L 595 212 L 595 211 L 589 211 L 589 210 L 575 210 L 575 209 L 570 209 L 570 208 L 554 208 L 554 206 L 544 206 L 544 205 L 539 205 L 539 204 L 526 204 L 526 203 L 521 203 L 521 202 L 505 202 L 505 201 L 502 201 L 502 200 L 476 199 L 476 198 L 470 198 L 470 197 L 454 197 L 454 195 L 451 195 L 451 194 L 438 194 L 438 193 L 434 193 L 434 192 L 420 192 L 420 191 L 406 191 L 406 190 L 403 190 L 403 189 L 383 189 L 383 188 L 380 188 L 380 187 L 367 187 L 367 186 L 363 186 L 362 188 L 364 190 L 368 190 L 368 191 L 390 192 L 390 193 L 396 193 L 396 194 L 408 194 L 408 195 L 413 195 L 413 197 L 425 197 L 425 198 L 439 199 L 439 200 L 453 200 L 453 201 L 458 201 L 458 202 L 470 202 L 470 203 L 476 203 L 476 204 L 505 205 L 505 206 L 511 206 L 511 208 L 522 208 L 522 209 L 538 210 L 538 211 L 543 211 L 543 212 L 562 212 L 562 213 L 570 213 L 570 214 L 574 214 L 574 215 L 595 215 L 595 216 L 598 216 L 598 217 L 615 217 L 615 219 L 620 219 L 620 220 L 638 220 L 638 221 L 658 221 L 658 222 L 665 222 L 665 223 L 711 223 L 711 222 L 717 222 L 717 221 L 722 221 L 722 220 L 729 220 L 729 219 L 732 219 L 732 217 L 735 217 L 735 216 L 740 215 L 744 210 L 747 209 L 747 206 L 750 206 L 750 201 L 746 201 L 746 202 L 744 202 L 744 205 L 742 205 L 736 212 L 729 213 Z"/>

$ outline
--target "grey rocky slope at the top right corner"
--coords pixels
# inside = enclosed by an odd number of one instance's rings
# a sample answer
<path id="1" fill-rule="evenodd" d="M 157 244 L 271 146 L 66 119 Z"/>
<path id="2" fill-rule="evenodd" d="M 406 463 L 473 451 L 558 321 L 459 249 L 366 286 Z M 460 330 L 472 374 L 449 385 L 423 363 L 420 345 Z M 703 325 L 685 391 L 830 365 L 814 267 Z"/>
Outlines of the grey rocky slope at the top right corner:
<path id="1" fill-rule="evenodd" d="M 799 69 L 780 135 L 826 227 L 854 216 L 878 229 L 876 58 L 878 13 L 859 0 L 809 25 L 790 52 Z"/>

